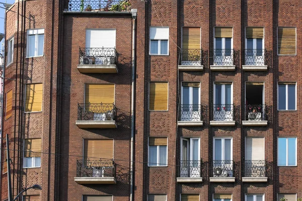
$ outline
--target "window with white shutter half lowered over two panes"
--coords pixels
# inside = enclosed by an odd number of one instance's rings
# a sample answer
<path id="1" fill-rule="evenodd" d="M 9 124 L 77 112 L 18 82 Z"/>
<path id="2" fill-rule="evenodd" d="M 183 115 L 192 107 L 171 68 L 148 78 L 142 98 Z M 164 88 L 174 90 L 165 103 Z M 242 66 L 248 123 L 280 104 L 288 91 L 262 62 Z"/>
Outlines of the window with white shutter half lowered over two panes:
<path id="1" fill-rule="evenodd" d="M 150 27 L 150 55 L 168 55 L 169 27 Z"/>

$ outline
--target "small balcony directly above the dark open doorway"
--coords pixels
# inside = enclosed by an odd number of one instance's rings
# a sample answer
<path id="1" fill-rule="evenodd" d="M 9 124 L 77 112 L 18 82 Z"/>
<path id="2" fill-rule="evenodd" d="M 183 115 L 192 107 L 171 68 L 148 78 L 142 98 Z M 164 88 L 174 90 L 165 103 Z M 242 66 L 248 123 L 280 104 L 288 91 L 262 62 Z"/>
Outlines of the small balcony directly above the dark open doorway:
<path id="1" fill-rule="evenodd" d="M 266 49 L 245 49 L 245 64 L 242 66 L 246 71 L 265 71 L 266 64 Z"/>

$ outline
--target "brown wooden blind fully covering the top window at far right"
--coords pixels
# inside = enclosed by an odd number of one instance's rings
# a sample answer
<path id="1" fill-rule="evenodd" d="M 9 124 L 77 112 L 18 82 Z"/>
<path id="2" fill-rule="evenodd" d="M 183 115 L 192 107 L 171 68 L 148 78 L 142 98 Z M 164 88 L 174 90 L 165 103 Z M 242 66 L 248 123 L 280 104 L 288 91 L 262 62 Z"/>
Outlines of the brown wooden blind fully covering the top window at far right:
<path id="1" fill-rule="evenodd" d="M 278 54 L 296 54 L 296 30 L 295 28 L 278 27 Z"/>

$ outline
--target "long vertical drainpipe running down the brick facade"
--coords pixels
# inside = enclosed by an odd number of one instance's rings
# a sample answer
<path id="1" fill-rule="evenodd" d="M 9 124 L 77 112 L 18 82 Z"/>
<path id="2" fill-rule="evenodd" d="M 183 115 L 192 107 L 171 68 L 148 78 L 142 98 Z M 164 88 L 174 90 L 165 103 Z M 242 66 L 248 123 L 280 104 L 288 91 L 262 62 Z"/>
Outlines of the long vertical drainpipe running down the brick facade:
<path id="1" fill-rule="evenodd" d="M 131 82 L 131 162 L 130 162 L 130 201 L 134 200 L 134 134 L 135 134 L 135 41 L 136 41 L 136 14 L 137 9 L 131 9 L 133 23 L 132 23 L 132 82 Z"/>

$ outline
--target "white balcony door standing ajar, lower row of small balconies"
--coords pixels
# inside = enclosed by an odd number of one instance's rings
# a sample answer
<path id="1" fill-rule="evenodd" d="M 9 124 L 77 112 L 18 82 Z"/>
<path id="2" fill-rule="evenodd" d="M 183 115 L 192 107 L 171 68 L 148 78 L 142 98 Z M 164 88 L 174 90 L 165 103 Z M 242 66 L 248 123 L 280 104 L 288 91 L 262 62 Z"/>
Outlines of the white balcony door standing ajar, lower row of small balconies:
<path id="1" fill-rule="evenodd" d="M 182 138 L 180 176 L 200 177 L 200 139 Z"/>

